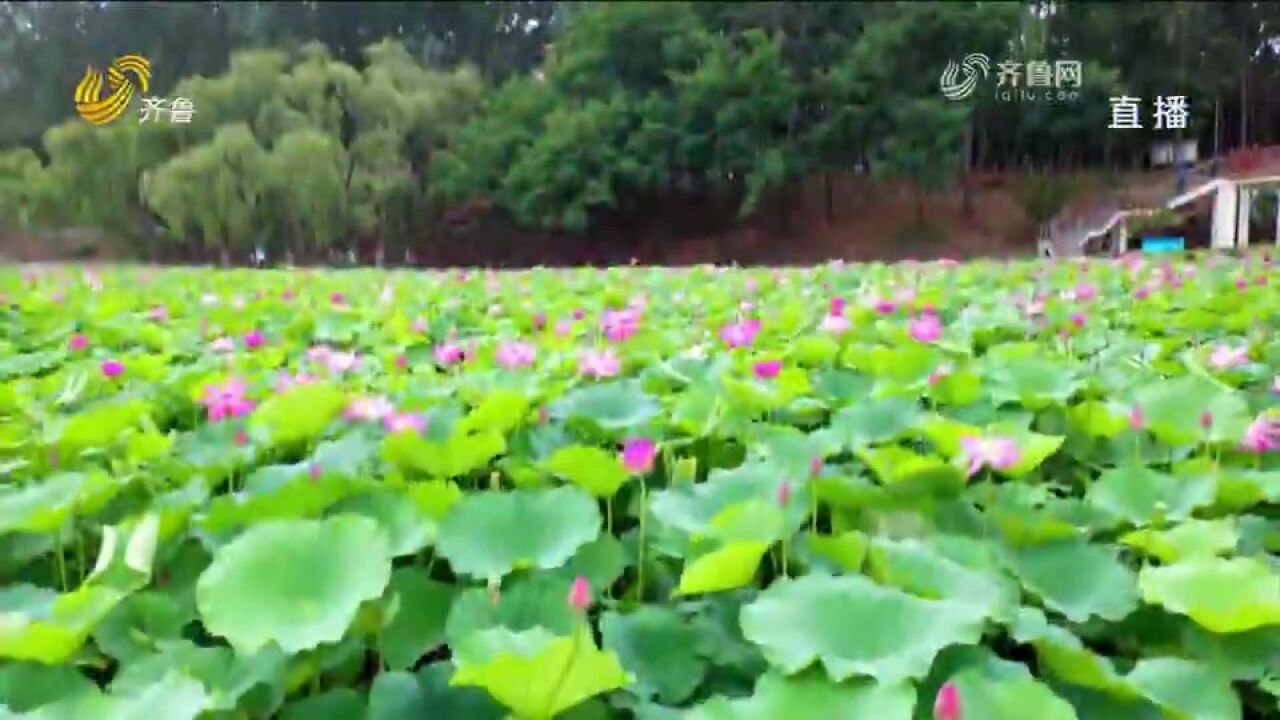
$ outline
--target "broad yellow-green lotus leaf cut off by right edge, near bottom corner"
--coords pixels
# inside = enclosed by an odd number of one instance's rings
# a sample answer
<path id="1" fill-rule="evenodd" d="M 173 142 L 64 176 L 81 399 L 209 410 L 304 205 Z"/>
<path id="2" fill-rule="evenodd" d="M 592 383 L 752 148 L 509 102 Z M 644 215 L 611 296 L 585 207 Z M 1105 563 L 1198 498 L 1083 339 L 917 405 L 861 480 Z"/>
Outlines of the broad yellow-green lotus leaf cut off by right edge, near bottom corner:
<path id="1" fill-rule="evenodd" d="M 1138 575 L 1142 597 L 1215 633 L 1280 625 L 1280 575 L 1254 557 L 1193 557 Z"/>

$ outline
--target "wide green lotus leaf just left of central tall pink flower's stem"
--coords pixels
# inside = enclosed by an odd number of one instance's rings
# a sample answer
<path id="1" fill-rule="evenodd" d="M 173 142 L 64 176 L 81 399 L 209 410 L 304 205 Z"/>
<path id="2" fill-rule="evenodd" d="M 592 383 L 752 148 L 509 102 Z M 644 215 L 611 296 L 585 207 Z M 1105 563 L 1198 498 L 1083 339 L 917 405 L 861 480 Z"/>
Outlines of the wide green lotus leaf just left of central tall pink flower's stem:
<path id="1" fill-rule="evenodd" d="M 599 509 L 575 487 L 479 492 L 453 505 L 435 544 L 456 573 L 498 580 L 557 568 L 599 533 Z"/>

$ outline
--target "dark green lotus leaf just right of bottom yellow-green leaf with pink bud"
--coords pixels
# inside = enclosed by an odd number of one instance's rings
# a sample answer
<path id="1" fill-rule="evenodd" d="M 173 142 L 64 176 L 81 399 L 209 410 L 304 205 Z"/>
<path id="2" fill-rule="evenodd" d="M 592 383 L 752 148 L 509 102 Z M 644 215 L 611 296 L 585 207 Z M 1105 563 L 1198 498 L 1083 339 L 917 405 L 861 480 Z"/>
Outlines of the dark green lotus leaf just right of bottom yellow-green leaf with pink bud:
<path id="1" fill-rule="evenodd" d="M 622 667 L 635 675 L 636 694 L 657 696 L 664 703 L 687 700 L 707 673 L 698 652 L 698 633 L 675 610 L 644 606 L 626 615 L 600 618 L 605 650 L 617 653 Z"/>

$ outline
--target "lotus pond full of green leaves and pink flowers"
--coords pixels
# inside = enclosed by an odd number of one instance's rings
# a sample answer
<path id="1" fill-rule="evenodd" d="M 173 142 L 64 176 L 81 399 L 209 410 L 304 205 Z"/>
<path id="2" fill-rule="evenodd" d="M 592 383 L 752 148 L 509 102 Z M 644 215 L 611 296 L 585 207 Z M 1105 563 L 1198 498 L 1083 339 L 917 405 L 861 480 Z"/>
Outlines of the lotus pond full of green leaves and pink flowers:
<path id="1" fill-rule="evenodd" d="M 1267 258 L 0 272 L 0 717 L 1280 719 Z"/>

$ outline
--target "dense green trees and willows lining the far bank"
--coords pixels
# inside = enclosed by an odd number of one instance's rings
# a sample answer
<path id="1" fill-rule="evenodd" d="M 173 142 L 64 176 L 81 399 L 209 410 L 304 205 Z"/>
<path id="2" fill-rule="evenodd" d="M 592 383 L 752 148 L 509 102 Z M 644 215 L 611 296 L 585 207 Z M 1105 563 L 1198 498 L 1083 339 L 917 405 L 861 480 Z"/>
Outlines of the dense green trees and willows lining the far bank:
<path id="1" fill-rule="evenodd" d="M 128 53 L 192 122 L 76 115 L 86 65 Z M 1002 100 L 995 68 L 943 97 L 973 53 L 1079 61 L 1078 97 Z M 477 214 L 588 233 L 676 201 L 744 217 L 855 169 L 923 196 L 1139 167 L 1157 137 L 1280 143 L 1280 3 L 1262 1 L 3 3 L 0 58 L 0 223 L 102 228 L 152 258 L 399 259 Z M 1121 95 L 1143 129 L 1108 129 Z M 1155 129 L 1171 95 L 1188 128 Z"/>

